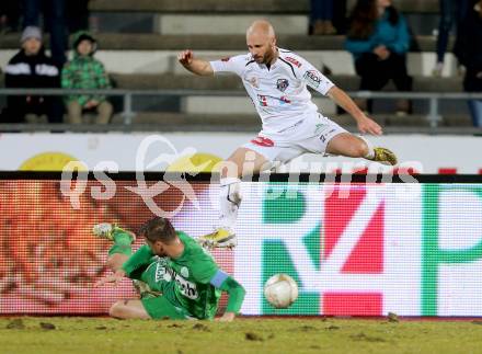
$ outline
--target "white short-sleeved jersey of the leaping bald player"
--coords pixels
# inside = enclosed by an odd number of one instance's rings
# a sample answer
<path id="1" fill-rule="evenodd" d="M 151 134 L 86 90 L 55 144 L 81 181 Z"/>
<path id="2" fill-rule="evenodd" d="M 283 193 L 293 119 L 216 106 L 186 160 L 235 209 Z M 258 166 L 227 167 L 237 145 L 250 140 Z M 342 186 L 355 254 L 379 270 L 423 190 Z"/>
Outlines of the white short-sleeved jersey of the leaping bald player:
<path id="1" fill-rule="evenodd" d="M 283 133 L 318 115 L 307 84 L 323 95 L 334 85 L 295 53 L 278 48 L 278 54 L 269 68 L 254 61 L 251 54 L 210 61 L 215 73 L 233 72 L 242 79 L 267 134 Z"/>

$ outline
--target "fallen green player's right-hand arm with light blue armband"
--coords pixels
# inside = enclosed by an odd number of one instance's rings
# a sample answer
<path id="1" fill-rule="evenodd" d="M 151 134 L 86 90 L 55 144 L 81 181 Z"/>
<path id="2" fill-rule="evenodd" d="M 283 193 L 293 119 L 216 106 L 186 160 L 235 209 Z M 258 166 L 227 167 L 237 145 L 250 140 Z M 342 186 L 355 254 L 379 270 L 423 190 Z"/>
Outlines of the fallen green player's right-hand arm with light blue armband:
<path id="1" fill-rule="evenodd" d="M 246 292 L 241 284 L 220 270 L 211 278 L 210 284 L 228 293 L 228 306 L 221 320 L 231 321 L 239 313 Z"/>

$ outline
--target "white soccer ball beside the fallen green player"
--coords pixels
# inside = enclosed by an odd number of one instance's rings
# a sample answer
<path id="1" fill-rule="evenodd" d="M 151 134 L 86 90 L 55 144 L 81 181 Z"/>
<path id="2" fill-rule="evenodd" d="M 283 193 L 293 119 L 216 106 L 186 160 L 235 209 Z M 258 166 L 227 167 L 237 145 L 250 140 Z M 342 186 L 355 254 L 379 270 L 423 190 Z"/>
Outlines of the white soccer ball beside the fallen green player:
<path id="1" fill-rule="evenodd" d="M 275 274 L 264 284 L 264 297 L 275 308 L 288 308 L 298 298 L 298 285 L 287 274 Z"/>

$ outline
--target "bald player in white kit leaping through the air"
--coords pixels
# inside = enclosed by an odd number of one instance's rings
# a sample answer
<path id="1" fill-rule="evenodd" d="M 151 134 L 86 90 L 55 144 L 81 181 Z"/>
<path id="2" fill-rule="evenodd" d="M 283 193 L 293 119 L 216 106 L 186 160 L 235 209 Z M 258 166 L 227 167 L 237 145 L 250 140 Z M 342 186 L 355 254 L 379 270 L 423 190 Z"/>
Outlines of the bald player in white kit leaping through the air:
<path id="1" fill-rule="evenodd" d="M 382 134 L 375 121 L 310 62 L 292 52 L 278 48 L 269 22 L 253 22 L 246 31 L 246 44 L 249 54 L 221 60 L 202 60 L 195 58 L 192 50 L 177 56 L 187 70 L 199 76 L 238 75 L 263 122 L 259 136 L 225 161 L 220 178 L 219 222 L 215 232 L 199 238 L 208 248 L 237 244 L 234 227 L 241 203 L 242 175 L 269 169 L 273 162 L 286 163 L 305 152 L 397 164 L 392 151 L 371 147 L 366 139 L 348 133 L 318 112 L 307 85 L 348 112 L 362 133 Z M 250 163 L 243 169 L 245 161 Z"/>

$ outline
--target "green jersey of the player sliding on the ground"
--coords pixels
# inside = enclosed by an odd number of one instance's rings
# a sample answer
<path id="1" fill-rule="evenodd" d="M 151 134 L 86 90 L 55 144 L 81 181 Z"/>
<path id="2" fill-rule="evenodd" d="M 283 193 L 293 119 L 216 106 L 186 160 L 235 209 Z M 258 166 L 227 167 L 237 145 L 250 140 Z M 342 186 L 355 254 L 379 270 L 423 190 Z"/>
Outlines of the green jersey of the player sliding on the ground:
<path id="1" fill-rule="evenodd" d="M 219 267 L 194 239 L 184 232 L 176 233 L 184 243 L 181 256 L 156 256 L 145 244 L 124 263 L 123 270 L 128 277 L 147 283 L 193 317 L 214 318 L 221 292 L 210 281 Z"/>

